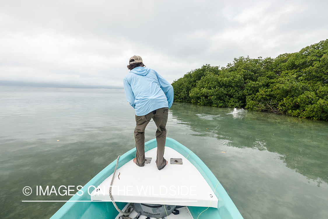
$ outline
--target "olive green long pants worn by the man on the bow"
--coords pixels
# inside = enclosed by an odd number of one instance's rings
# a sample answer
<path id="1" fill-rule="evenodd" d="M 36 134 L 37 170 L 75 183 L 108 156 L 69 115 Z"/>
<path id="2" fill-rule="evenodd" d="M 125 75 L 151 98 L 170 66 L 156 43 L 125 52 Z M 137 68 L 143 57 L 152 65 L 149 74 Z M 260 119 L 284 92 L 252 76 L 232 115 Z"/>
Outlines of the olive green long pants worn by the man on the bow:
<path id="1" fill-rule="evenodd" d="M 145 165 L 145 129 L 151 120 L 154 120 L 156 130 L 156 141 L 157 141 L 157 158 L 156 165 L 158 169 L 163 168 L 166 165 L 164 159 L 164 147 L 166 141 L 166 122 L 169 115 L 169 108 L 159 108 L 153 112 L 148 113 L 144 116 L 135 116 L 135 129 L 134 129 L 134 141 L 136 148 L 136 161 L 138 166 Z"/>

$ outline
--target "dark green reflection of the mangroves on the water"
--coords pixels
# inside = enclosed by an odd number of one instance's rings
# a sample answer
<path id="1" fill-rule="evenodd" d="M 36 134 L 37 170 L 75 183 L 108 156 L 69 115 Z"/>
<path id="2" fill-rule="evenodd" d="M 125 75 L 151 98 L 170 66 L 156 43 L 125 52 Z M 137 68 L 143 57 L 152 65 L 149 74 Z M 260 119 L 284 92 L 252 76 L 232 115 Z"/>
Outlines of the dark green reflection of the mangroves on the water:
<path id="1" fill-rule="evenodd" d="M 244 109 L 174 104 L 172 118 L 218 144 L 279 154 L 288 168 L 328 183 L 328 123 Z"/>

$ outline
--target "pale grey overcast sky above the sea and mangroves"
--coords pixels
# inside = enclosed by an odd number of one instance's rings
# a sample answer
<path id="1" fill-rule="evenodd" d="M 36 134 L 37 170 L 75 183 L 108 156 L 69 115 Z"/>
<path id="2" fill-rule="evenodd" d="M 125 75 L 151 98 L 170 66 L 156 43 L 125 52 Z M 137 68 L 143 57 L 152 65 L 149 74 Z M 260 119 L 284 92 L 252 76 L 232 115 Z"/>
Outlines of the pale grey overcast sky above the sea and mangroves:
<path id="1" fill-rule="evenodd" d="M 170 83 L 204 64 L 328 38 L 327 0 L 0 0 L 0 85 L 123 88 L 140 55 Z"/>

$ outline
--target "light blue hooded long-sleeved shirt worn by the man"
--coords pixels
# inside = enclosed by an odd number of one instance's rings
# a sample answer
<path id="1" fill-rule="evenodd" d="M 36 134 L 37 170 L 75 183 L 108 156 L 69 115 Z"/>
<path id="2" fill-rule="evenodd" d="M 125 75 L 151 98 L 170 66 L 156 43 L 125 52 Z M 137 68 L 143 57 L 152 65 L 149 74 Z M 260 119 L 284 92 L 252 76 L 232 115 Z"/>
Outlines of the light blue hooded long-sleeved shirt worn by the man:
<path id="1" fill-rule="evenodd" d="M 151 68 L 136 67 L 123 79 L 127 101 L 135 115 L 144 116 L 173 103 L 172 85 Z"/>

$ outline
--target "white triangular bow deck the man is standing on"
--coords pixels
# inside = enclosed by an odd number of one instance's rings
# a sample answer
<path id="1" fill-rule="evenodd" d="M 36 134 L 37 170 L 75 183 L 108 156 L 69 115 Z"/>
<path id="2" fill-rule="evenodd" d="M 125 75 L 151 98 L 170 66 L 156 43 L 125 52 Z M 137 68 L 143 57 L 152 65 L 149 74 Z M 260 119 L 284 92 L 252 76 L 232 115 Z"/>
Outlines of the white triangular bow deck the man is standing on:
<path id="1" fill-rule="evenodd" d="M 218 199 L 206 180 L 180 153 L 165 147 L 164 158 L 169 164 L 162 170 L 156 167 L 156 148 L 145 152 L 145 156 L 152 158 L 150 164 L 139 167 L 131 160 L 116 170 L 112 187 L 115 202 L 217 208 Z M 171 158 L 182 158 L 183 164 L 170 164 Z M 112 176 L 92 191 L 91 200 L 111 201 Z"/>

